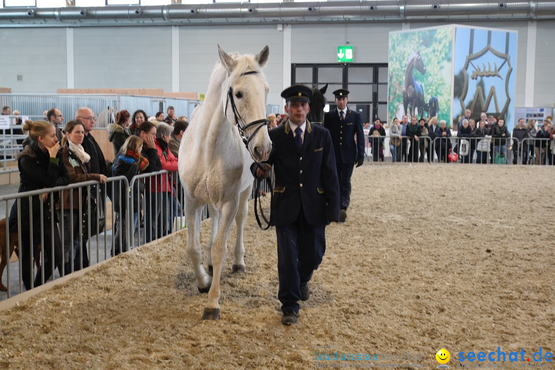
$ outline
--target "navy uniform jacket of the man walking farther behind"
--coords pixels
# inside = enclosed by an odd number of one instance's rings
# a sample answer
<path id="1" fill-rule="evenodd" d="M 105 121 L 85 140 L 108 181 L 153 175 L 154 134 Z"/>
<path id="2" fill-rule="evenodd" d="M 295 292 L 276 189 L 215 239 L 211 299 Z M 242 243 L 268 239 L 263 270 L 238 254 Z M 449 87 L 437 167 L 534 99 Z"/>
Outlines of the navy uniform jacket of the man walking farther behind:
<path id="1" fill-rule="evenodd" d="M 324 127 L 330 130 L 337 163 L 354 164 L 357 159 L 364 158 L 364 131 L 362 130 L 362 117 L 359 112 L 347 107 L 347 114 L 341 121 L 339 111 L 336 108 L 326 113 Z"/>

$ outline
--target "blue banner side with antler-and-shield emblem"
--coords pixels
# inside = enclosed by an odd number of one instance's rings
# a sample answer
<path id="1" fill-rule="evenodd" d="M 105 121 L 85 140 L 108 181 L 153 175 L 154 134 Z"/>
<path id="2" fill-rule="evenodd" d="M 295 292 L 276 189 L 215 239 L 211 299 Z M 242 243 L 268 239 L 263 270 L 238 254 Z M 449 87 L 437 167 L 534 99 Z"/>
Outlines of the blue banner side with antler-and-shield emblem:
<path id="1" fill-rule="evenodd" d="M 503 118 L 512 131 L 516 95 L 516 31 L 482 27 L 456 27 L 453 122 L 467 109 L 470 118 L 480 114 Z"/>

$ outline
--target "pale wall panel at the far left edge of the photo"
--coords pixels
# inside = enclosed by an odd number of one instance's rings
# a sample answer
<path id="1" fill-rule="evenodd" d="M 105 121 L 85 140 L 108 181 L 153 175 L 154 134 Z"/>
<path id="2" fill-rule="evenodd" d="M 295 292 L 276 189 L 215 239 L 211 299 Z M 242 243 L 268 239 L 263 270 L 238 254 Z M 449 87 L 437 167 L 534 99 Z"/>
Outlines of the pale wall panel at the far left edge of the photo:
<path id="1" fill-rule="evenodd" d="M 0 86 L 13 93 L 56 93 L 66 87 L 65 28 L 0 28 L 0 45 Z"/>

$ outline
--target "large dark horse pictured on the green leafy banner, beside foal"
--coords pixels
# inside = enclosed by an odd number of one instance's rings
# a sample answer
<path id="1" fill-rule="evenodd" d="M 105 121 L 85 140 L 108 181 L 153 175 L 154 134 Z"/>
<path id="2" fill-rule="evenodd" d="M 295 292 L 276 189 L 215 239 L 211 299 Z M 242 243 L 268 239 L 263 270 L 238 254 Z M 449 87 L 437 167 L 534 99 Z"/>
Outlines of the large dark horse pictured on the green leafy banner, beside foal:
<path id="1" fill-rule="evenodd" d="M 420 55 L 420 49 L 408 57 L 405 83 L 403 84 L 403 108 L 405 114 L 411 117 L 415 115 L 415 108 L 418 108 L 418 113 L 422 115 L 426 105 L 422 83 L 415 80 L 412 75 L 412 70 L 415 68 L 418 72 L 426 74 L 426 65 L 424 65 L 422 55 Z"/>

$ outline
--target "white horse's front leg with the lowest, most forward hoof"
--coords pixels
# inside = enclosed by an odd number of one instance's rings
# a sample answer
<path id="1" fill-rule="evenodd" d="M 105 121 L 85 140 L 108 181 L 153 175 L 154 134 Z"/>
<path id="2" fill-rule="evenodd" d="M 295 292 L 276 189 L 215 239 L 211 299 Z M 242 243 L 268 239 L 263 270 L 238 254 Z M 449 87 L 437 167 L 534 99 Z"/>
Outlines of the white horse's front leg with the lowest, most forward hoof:
<path id="1" fill-rule="evenodd" d="M 227 242 L 231 224 L 237 214 L 239 206 L 239 196 L 235 199 L 226 202 L 221 207 L 220 217 L 218 220 L 218 234 L 212 246 L 212 265 L 214 267 L 214 275 L 212 277 L 212 286 L 208 292 L 208 303 L 204 307 L 202 320 L 218 320 L 220 318 L 220 277 L 221 269 L 224 265 L 225 257 L 227 254 Z"/>

